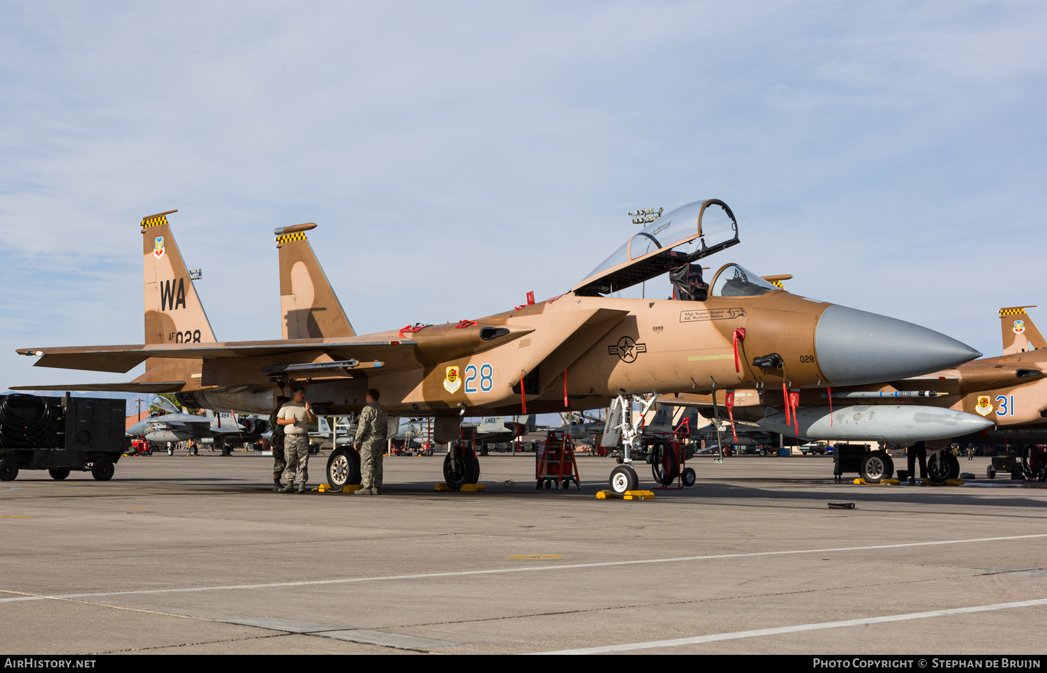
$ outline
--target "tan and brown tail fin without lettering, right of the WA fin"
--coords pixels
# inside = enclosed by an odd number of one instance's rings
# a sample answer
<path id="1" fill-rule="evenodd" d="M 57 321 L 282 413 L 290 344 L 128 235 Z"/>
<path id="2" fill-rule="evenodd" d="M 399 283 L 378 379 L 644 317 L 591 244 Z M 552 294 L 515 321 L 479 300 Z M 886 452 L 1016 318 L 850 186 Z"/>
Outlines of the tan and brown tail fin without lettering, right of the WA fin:
<path id="1" fill-rule="evenodd" d="M 273 232 L 280 250 L 281 336 L 284 339 L 356 336 L 306 238 L 306 231 L 315 227 L 313 223 L 296 224 Z"/>

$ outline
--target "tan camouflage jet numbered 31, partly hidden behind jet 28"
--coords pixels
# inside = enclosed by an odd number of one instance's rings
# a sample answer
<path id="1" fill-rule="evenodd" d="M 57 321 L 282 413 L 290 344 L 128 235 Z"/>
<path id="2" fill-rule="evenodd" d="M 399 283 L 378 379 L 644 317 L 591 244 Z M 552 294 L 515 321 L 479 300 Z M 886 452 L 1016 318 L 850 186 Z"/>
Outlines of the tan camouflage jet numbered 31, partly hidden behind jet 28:
<path id="1" fill-rule="evenodd" d="M 777 389 L 735 390 L 730 409 L 727 391 L 717 395 L 717 409 L 711 396 L 675 396 L 664 402 L 695 404 L 706 414 L 722 409 L 725 417 L 755 421 L 784 436 L 805 440 L 878 441 L 897 446 L 923 441 L 937 451 L 954 441 L 1047 442 L 1047 349 L 1043 349 L 1047 342 L 1026 315 L 1027 308 L 1032 307 L 999 311 L 1004 355 L 871 388 L 833 387 L 831 410 L 830 390 L 809 388 L 795 391 L 790 405 Z M 980 428 L 976 427 L 979 419 Z M 958 472 L 958 466 L 954 471 Z M 889 477 L 887 472 L 872 475 L 873 480 Z"/>

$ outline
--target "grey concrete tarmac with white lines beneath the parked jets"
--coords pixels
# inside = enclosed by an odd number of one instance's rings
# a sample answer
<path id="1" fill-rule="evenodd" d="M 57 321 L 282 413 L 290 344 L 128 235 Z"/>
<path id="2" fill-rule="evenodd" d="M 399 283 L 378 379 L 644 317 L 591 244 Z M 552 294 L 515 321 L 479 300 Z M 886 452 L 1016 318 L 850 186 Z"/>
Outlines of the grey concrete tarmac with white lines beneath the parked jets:
<path id="1" fill-rule="evenodd" d="M 701 457 L 693 488 L 597 500 L 611 458 L 536 491 L 533 454 L 482 457 L 486 493 L 433 492 L 442 462 L 386 457 L 374 497 L 273 493 L 271 458 L 243 452 L 126 457 L 108 483 L 22 471 L 0 484 L 0 649 L 1047 653 L 1041 485 Z"/>

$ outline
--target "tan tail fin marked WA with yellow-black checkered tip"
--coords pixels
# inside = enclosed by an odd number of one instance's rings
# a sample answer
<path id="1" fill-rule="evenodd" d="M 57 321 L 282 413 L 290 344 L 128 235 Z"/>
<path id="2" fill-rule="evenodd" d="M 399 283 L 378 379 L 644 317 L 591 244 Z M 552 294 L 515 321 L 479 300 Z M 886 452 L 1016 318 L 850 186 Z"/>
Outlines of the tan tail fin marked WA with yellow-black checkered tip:
<path id="1" fill-rule="evenodd" d="M 146 276 L 146 343 L 215 341 L 178 244 L 168 226 L 168 210 L 142 218 Z"/>

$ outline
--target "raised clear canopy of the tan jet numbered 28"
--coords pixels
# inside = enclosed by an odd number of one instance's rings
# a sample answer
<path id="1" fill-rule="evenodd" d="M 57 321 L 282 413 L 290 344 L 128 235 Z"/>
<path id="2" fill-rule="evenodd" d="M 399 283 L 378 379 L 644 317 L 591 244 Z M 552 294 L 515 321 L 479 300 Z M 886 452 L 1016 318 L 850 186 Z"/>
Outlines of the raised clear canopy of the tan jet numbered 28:
<path id="1" fill-rule="evenodd" d="M 694 201 L 640 229 L 572 290 L 609 294 L 738 243 L 738 223 L 719 199 Z"/>

